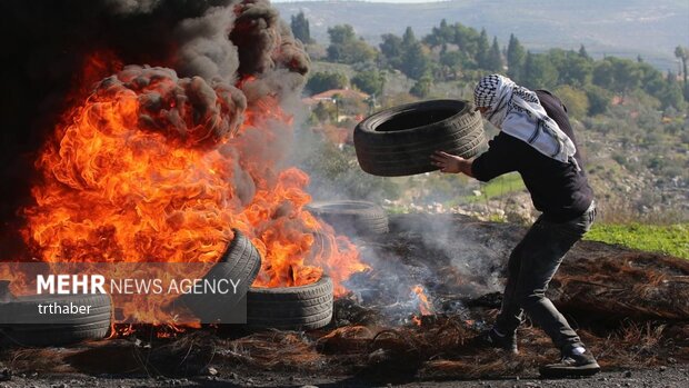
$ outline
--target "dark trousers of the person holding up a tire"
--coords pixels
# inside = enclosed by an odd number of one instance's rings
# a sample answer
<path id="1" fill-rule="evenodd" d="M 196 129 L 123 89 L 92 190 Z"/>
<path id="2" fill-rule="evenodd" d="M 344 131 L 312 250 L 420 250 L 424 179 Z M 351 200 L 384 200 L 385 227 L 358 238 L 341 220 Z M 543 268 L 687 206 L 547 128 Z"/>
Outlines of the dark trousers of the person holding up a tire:
<path id="1" fill-rule="evenodd" d="M 543 216 L 536 220 L 510 255 L 502 308 L 496 321 L 498 331 L 511 335 L 526 311 L 561 351 L 583 346 L 567 319 L 546 298 L 546 290 L 565 253 L 589 231 L 595 218 L 596 205 L 591 203 L 571 221 L 552 222 Z"/>

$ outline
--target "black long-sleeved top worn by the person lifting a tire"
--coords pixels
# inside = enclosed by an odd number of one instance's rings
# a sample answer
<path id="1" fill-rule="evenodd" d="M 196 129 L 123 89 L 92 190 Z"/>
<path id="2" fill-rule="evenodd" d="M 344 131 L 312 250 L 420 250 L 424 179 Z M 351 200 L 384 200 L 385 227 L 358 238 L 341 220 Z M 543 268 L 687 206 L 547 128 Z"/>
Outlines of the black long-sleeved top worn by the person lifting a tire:
<path id="1" fill-rule="evenodd" d="M 500 175 L 518 171 L 536 209 L 551 221 L 563 222 L 581 216 L 593 200 L 593 190 L 583 171 L 583 162 L 575 133 L 567 117 L 567 108 L 552 93 L 536 91 L 541 106 L 577 147 L 575 158 L 581 168 L 551 159 L 527 142 L 502 131 L 488 142 L 488 151 L 476 158 L 471 166 L 473 177 L 488 181 Z"/>

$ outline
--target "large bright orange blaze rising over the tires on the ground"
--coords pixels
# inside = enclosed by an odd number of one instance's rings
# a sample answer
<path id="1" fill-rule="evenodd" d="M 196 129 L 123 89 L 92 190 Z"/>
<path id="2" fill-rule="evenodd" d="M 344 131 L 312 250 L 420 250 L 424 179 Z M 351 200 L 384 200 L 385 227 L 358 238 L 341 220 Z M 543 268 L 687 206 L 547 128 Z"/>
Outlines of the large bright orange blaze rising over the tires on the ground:
<path id="1" fill-rule="evenodd" d="M 271 94 L 247 106 L 237 87 L 148 67 L 103 79 L 37 161 L 42 180 L 22 230 L 32 253 L 47 262 L 216 262 L 237 228 L 262 257 L 254 286 L 307 285 L 327 271 L 343 294 L 342 281 L 367 266 L 303 210 L 309 177 L 280 167 L 292 118 Z"/>

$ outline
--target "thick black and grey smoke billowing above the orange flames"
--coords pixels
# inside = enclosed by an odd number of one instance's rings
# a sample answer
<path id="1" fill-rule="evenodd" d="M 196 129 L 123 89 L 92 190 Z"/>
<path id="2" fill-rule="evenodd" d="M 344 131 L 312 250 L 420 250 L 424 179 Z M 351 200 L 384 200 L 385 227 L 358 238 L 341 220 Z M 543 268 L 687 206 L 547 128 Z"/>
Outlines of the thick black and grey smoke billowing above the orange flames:
<path id="1" fill-rule="evenodd" d="M 123 66 L 133 66 L 129 74 L 189 78 L 180 84 L 197 98 L 201 116 L 218 120 L 214 130 L 222 133 L 236 129 L 246 103 L 267 93 L 297 96 L 308 71 L 301 43 L 267 0 L 3 0 L 0 14 L 0 242 L 14 240 L 37 179 L 33 163 L 66 110 L 81 102 L 79 88 L 88 93 L 108 82 L 140 87 L 122 82 Z M 112 76 L 109 81 L 83 84 L 84 64 L 99 52 L 121 63 L 104 63 L 113 71 L 100 76 Z M 253 80 L 241 90 L 249 77 Z M 211 89 L 237 112 L 222 118 L 222 111 L 213 111 L 206 103 Z M 143 116 L 151 127 L 170 120 L 157 97 L 149 98 Z"/>

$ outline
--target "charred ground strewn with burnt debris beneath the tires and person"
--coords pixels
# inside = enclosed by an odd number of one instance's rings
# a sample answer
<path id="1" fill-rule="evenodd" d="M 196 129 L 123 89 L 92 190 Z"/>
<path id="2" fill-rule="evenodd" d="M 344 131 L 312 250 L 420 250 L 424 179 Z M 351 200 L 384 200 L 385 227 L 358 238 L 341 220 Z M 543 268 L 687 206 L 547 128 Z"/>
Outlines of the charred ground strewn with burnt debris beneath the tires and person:
<path id="1" fill-rule="evenodd" d="M 351 280 L 322 330 L 206 327 L 160 338 L 160 328 L 137 327 L 67 348 L 6 346 L 0 387 L 689 386 L 689 261 L 578 243 L 548 292 L 602 372 L 541 380 L 538 366 L 559 351 L 530 321 L 519 356 L 471 340 L 498 311 L 502 268 L 525 229 L 450 215 L 396 216 L 390 229 L 357 240 L 373 270 Z M 415 285 L 430 299 L 427 315 Z"/>

